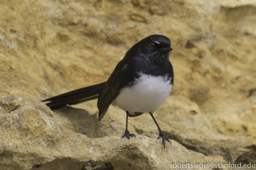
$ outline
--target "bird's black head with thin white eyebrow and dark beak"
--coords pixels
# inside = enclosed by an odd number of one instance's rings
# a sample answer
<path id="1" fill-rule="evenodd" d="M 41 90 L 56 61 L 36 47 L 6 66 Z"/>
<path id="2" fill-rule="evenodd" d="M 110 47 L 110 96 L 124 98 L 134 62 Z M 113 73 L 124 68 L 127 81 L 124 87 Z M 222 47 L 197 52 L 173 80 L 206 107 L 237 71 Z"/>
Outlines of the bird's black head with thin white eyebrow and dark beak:
<path id="1" fill-rule="evenodd" d="M 173 50 L 170 39 L 161 35 L 148 36 L 138 44 L 140 44 L 141 52 L 147 60 L 168 60 L 169 52 Z"/>

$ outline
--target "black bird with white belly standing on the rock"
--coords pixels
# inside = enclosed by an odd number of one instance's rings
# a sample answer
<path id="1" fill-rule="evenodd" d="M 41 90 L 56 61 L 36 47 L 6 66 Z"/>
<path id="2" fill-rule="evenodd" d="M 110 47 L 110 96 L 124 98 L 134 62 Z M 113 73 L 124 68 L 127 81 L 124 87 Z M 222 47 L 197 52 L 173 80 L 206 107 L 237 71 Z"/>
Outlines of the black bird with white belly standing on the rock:
<path id="1" fill-rule="evenodd" d="M 58 109 L 98 99 L 99 121 L 111 104 L 118 106 L 126 112 L 126 129 L 122 138 L 128 139 L 136 137 L 128 131 L 128 117 L 149 113 L 159 130 L 157 139 L 162 138 L 165 149 L 165 140 L 171 141 L 164 136 L 153 113 L 173 89 L 174 71 L 169 60 L 172 50 L 168 37 L 148 36 L 126 52 L 106 82 L 60 94 L 42 102 L 49 102 L 46 105 L 50 109 Z"/>

